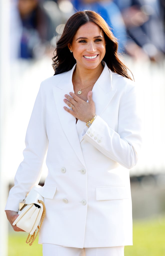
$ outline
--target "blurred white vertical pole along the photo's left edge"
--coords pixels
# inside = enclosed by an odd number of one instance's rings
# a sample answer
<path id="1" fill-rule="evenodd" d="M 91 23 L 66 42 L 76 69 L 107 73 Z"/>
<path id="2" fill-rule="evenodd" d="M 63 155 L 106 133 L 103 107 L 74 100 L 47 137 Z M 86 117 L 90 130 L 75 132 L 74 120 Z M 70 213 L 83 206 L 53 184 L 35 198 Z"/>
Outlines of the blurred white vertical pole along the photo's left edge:
<path id="1" fill-rule="evenodd" d="M 8 221 L 4 207 L 8 194 L 7 173 L 4 171 L 3 146 L 10 99 L 9 61 L 9 0 L 0 0 L 0 255 L 7 256 Z"/>

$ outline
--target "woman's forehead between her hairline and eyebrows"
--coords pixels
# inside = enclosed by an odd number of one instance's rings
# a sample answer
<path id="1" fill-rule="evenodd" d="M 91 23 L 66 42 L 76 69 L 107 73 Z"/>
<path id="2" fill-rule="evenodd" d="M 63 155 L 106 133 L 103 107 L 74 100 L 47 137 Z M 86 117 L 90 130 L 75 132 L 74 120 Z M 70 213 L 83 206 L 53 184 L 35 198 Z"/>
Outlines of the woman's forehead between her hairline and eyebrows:
<path id="1" fill-rule="evenodd" d="M 88 22 L 82 25 L 76 32 L 75 37 L 103 36 L 103 30 L 94 22 Z"/>

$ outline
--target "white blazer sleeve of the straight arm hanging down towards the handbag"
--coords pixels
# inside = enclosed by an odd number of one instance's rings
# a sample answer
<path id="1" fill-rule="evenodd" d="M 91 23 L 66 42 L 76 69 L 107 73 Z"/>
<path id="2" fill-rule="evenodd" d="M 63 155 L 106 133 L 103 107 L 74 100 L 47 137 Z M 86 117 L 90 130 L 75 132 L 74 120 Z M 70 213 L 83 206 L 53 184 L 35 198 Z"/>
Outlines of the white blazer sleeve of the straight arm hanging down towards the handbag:
<path id="1" fill-rule="evenodd" d="M 5 210 L 18 211 L 19 202 L 23 201 L 31 187 L 41 178 L 43 159 L 48 145 L 46 132 L 46 109 L 42 95 L 42 83 L 28 124 L 24 160 L 20 163 L 10 189 Z"/>

